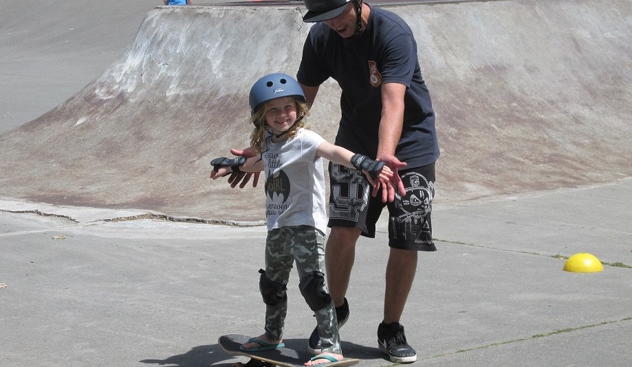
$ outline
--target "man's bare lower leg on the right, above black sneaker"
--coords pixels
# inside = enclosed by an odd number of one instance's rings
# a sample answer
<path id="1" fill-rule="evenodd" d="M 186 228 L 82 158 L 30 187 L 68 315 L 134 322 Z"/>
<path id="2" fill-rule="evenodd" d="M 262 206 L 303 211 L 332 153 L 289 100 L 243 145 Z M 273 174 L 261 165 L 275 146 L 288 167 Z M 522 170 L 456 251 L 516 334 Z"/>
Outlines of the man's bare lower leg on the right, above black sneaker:
<path id="1" fill-rule="evenodd" d="M 386 265 L 384 323 L 400 322 L 417 270 L 417 251 L 391 248 Z M 327 270 L 329 272 L 329 270 Z"/>

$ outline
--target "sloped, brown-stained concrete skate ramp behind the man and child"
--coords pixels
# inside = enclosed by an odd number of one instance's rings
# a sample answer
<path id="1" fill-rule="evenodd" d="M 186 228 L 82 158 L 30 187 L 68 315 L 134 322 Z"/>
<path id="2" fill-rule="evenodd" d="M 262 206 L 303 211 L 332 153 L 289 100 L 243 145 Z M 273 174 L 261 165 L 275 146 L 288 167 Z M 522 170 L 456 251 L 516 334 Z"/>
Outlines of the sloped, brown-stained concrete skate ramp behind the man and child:
<path id="1" fill-rule="evenodd" d="M 386 6 L 386 5 L 384 5 Z M 411 25 L 442 157 L 435 205 L 632 176 L 632 1 L 391 5 Z M 248 91 L 296 73 L 296 5 L 156 8 L 120 60 L 0 135 L 0 196 L 263 220 L 263 185 L 230 189 L 209 161 L 248 145 Z M 308 123 L 333 139 L 334 82 Z"/>

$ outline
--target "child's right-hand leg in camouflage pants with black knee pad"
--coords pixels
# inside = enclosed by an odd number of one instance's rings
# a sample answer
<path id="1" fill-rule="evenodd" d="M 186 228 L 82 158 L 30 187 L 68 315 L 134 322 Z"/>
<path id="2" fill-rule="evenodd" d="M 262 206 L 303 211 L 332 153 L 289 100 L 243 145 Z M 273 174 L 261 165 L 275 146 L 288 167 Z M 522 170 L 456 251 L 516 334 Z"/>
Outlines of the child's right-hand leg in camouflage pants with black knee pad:
<path id="1" fill-rule="evenodd" d="M 325 236 L 309 226 L 292 228 L 296 230 L 292 236 L 292 253 L 301 279 L 298 288 L 316 316 L 322 354 L 342 359 L 334 301 L 325 285 Z"/>

